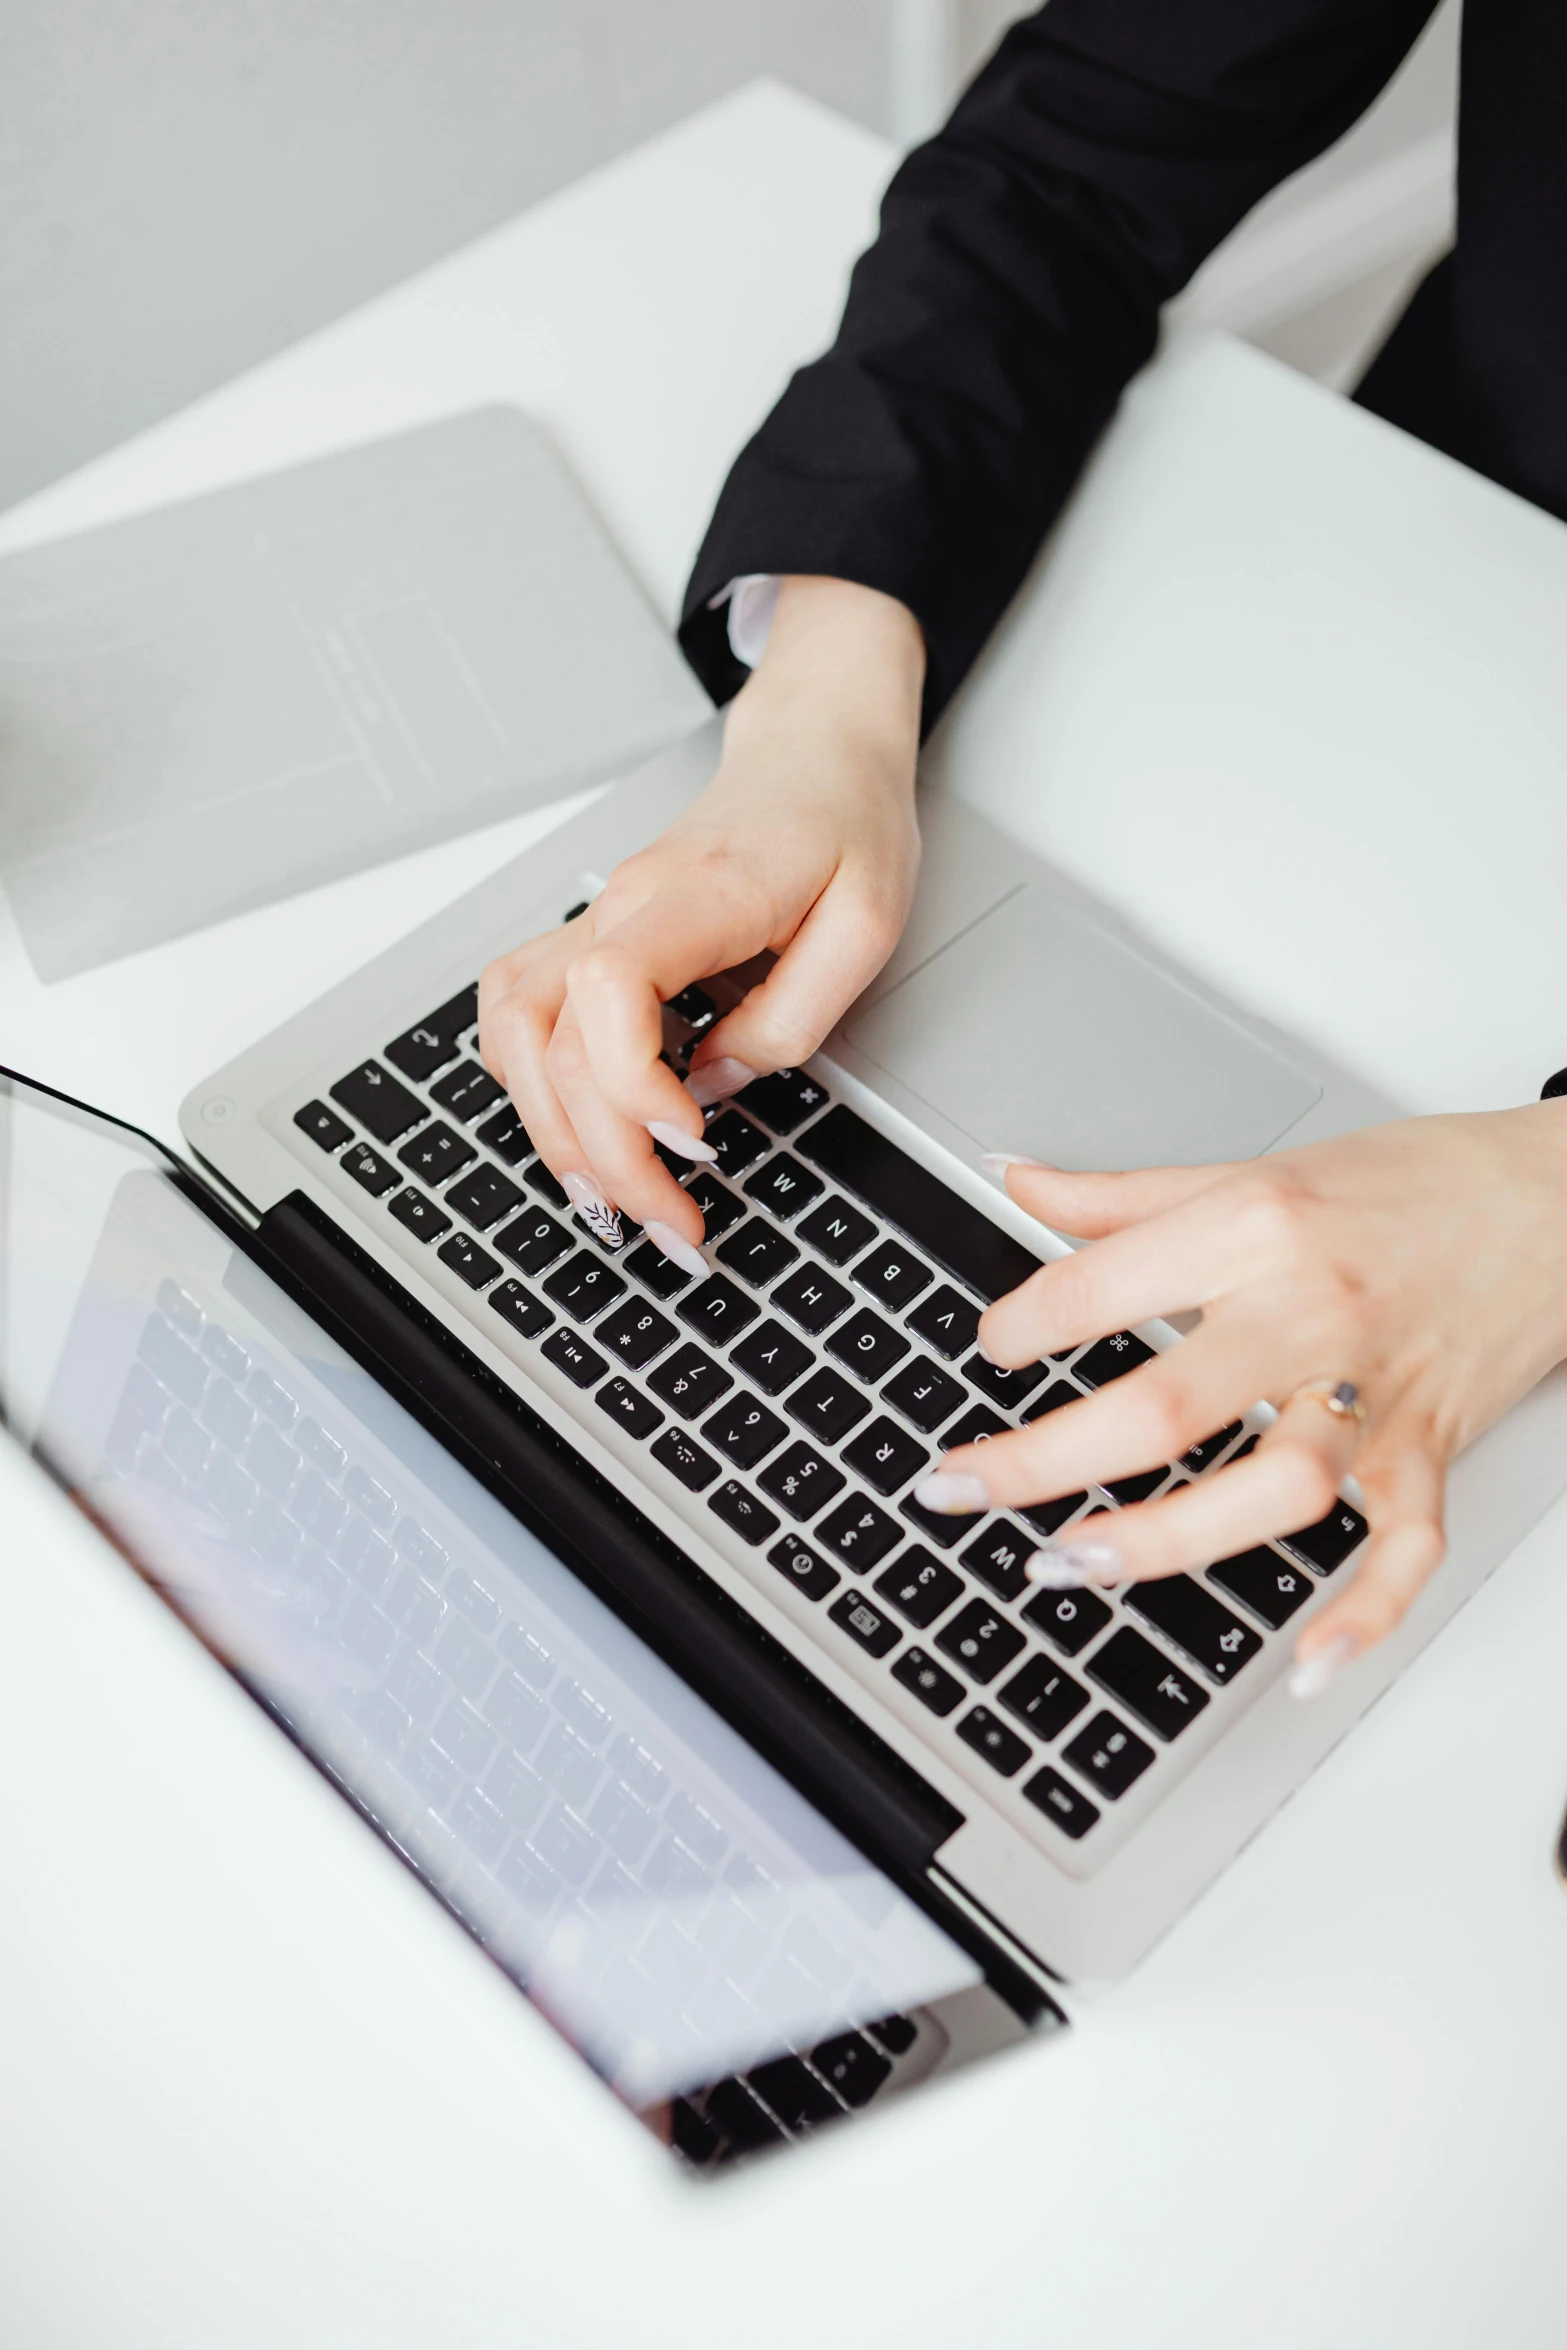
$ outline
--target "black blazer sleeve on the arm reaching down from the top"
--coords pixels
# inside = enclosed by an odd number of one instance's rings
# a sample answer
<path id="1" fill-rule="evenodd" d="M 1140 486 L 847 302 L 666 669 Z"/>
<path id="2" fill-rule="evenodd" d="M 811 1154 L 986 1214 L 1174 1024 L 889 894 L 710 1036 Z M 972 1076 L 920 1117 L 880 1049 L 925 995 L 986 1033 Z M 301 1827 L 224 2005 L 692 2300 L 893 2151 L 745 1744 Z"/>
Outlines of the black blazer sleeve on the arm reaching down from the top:
<path id="1" fill-rule="evenodd" d="M 1158 331 L 1158 308 L 1370 106 L 1433 0 L 1050 0 L 916 148 L 839 338 L 724 484 L 681 644 L 745 670 L 709 599 L 745 571 L 900 597 L 930 726 Z"/>

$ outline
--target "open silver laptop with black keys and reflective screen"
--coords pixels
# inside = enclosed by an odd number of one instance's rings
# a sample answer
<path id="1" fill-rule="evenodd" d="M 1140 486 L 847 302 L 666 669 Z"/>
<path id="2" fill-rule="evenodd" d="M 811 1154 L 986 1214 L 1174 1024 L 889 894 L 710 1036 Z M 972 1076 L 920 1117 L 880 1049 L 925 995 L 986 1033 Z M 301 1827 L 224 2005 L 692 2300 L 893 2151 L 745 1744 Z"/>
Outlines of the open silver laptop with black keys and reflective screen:
<path id="1" fill-rule="evenodd" d="M 1567 1483 L 1546 1382 L 1459 1464 L 1442 1574 L 1313 1706 L 1283 1680 L 1353 1572 L 1353 1488 L 1186 1577 L 1024 1579 L 1041 1535 L 1222 1469 L 1266 1405 L 1109 1490 L 919 1511 L 942 1448 L 1179 1344 L 984 1363 L 982 1307 L 1069 1241 L 982 1149 L 1208 1161 L 1395 1114 L 940 794 L 888 968 L 811 1065 L 709 1112 L 714 1166 L 672 1166 L 712 1271 L 590 1231 L 477 1058 L 477 975 L 717 757 L 714 721 L 200 1083 L 195 1166 L 85 1213 L 132 1269 L 45 1316 L 87 1335 L 33 1377 L 38 1450 L 695 2169 L 1060 2026 Z M 667 1006 L 677 1069 L 752 975 Z"/>

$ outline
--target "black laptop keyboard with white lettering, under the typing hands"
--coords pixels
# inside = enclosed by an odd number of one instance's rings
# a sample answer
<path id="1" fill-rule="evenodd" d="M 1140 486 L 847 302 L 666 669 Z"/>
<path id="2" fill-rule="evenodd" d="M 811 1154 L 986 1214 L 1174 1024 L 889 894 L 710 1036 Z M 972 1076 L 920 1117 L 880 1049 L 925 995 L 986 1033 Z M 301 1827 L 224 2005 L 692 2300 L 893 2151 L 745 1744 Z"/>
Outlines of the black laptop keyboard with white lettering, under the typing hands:
<path id="1" fill-rule="evenodd" d="M 681 1069 L 717 1018 L 665 1008 Z M 712 1274 L 639 1227 L 620 1248 L 573 1215 L 477 1060 L 477 989 L 305 1102 L 294 1126 L 430 1248 L 479 1304 L 637 1445 L 648 1483 L 712 1513 L 742 1556 L 815 1603 L 818 1638 L 926 1708 L 951 1765 L 1020 1821 L 1078 1845 L 1231 1685 L 1259 1685 L 1316 1584 L 1365 1537 L 1346 1502 L 1278 1546 L 1114 1593 L 1031 1591 L 1029 1551 L 1095 1511 L 1205 1476 L 1243 1422 L 1179 1462 L 1027 1511 L 937 1518 L 912 1499 L 940 1455 L 1024 1426 L 1149 1361 L 1116 1330 L 1001 1370 L 980 1311 L 1038 1260 L 806 1069 L 707 1119 L 717 1166 L 665 1166 L 707 1222 Z M 721 1537 L 719 1537 L 721 1542 Z M 1017 1798 L 1017 1802 L 1013 1802 Z M 1027 1810 L 1024 1810 L 1027 1807 Z"/>

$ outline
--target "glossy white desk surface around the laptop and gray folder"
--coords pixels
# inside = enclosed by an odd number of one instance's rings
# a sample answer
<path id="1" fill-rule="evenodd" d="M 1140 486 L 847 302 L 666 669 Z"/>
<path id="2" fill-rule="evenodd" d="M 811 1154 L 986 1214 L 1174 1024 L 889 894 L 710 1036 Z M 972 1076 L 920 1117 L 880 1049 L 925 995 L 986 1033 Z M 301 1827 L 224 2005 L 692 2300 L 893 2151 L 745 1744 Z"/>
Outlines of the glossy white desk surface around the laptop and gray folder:
<path id="1" fill-rule="evenodd" d="M 886 160 L 745 92 L 0 545 L 512 397 L 672 611 Z M 1161 498 L 1182 559 L 1137 538 Z M 1410 1100 L 1567 1060 L 1567 533 L 1217 345 L 1137 395 L 1029 609 L 1048 642 L 1003 637 L 954 787 Z M 0 1058 L 174 1137 L 190 1081 L 538 822 L 52 989 L 0 921 Z M 0 1523 L 19 2350 L 1560 2350 L 1562 1509 L 1076 2033 L 714 2190 L 14 1455 Z"/>

